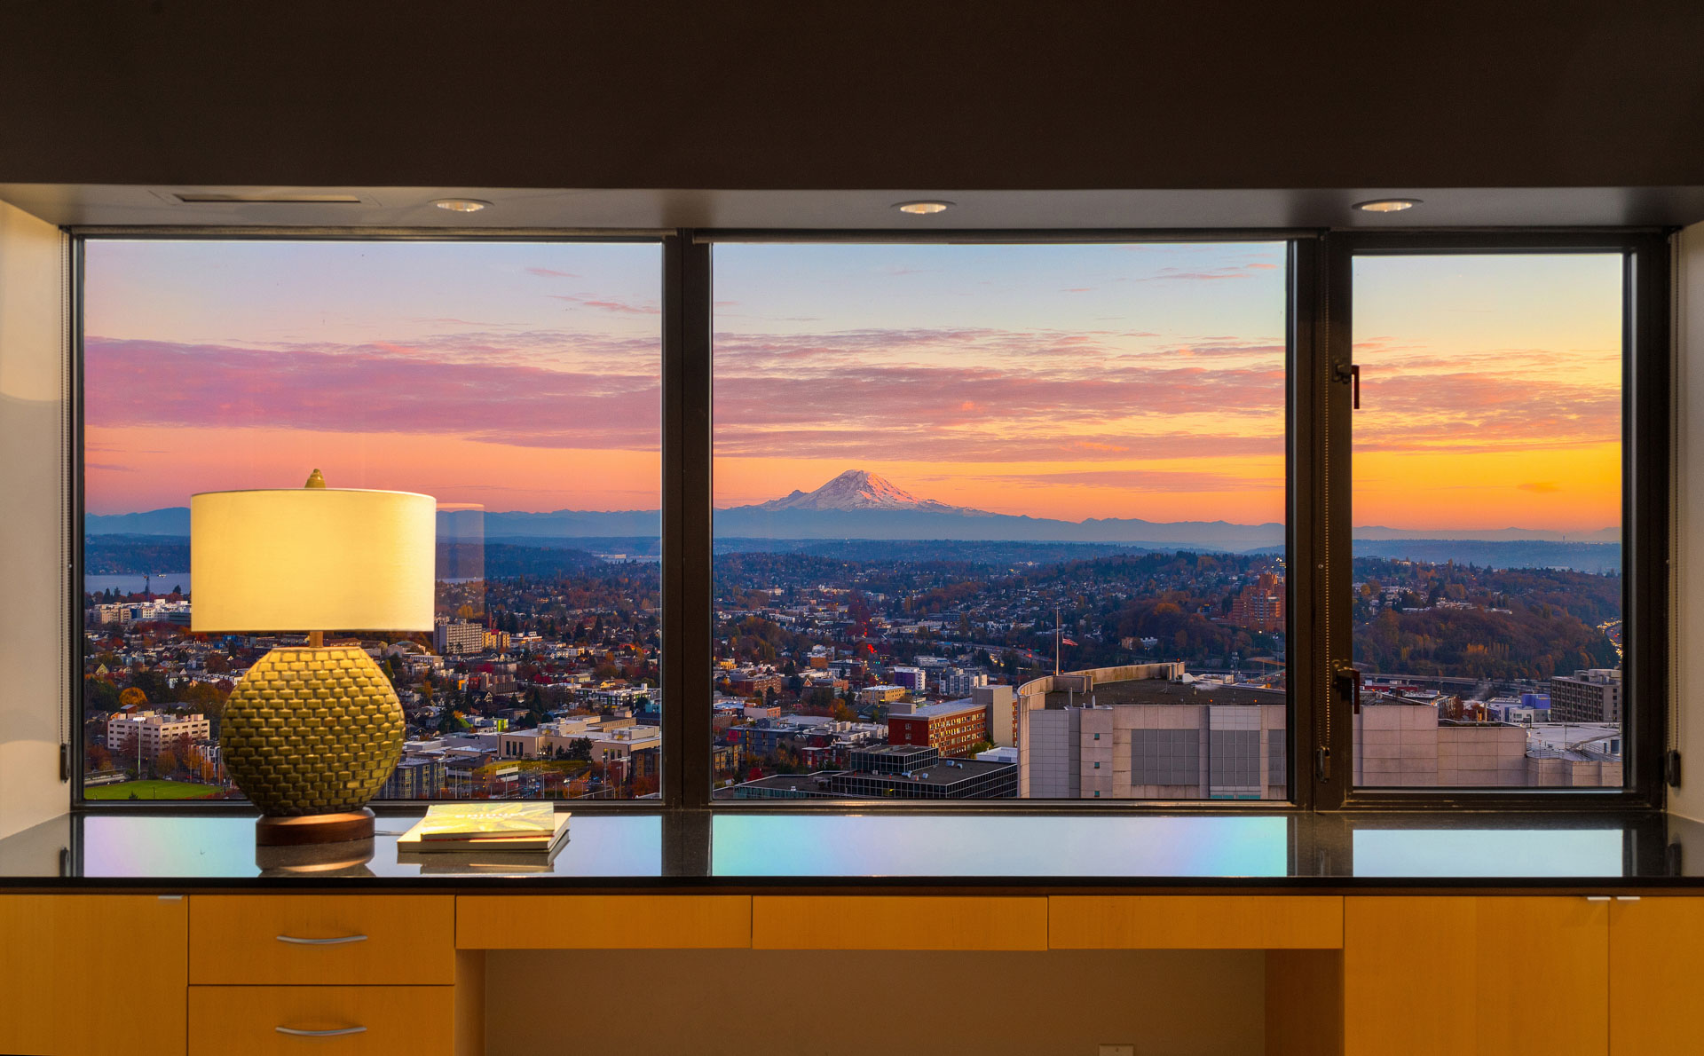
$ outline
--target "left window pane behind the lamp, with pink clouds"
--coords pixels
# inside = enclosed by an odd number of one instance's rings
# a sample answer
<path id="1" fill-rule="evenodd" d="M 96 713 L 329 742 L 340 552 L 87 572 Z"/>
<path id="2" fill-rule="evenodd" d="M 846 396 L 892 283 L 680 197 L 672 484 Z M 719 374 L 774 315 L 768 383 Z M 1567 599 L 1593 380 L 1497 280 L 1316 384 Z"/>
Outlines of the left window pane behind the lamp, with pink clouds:
<path id="1" fill-rule="evenodd" d="M 656 792 L 659 245 L 85 250 L 87 797 L 237 794 L 223 702 L 302 635 L 189 634 L 186 508 L 312 468 L 440 502 L 436 628 L 322 628 L 404 703 L 380 797 Z"/>

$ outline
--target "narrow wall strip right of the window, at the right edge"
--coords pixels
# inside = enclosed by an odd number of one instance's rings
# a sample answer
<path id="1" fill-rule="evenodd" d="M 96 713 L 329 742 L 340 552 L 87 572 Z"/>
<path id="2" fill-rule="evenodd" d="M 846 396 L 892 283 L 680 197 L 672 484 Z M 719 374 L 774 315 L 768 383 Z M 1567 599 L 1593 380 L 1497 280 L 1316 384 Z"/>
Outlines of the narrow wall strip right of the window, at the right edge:
<path id="1" fill-rule="evenodd" d="M 1704 821 L 1704 223 L 1680 232 L 1675 249 L 1675 497 L 1673 497 L 1673 620 L 1670 651 L 1675 680 L 1670 692 L 1682 785 L 1670 789 L 1668 809 Z"/>

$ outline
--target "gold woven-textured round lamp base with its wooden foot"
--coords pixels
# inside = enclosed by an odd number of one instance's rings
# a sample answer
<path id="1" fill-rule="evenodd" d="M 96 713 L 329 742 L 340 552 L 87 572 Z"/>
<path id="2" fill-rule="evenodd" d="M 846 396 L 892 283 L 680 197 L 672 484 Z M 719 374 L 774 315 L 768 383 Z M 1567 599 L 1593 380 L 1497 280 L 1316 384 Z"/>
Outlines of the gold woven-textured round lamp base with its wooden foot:
<path id="1" fill-rule="evenodd" d="M 361 807 L 397 768 L 402 729 L 397 693 L 363 649 L 279 647 L 232 690 L 218 741 L 225 772 L 266 814 L 259 840 L 308 843 L 373 835 Z"/>

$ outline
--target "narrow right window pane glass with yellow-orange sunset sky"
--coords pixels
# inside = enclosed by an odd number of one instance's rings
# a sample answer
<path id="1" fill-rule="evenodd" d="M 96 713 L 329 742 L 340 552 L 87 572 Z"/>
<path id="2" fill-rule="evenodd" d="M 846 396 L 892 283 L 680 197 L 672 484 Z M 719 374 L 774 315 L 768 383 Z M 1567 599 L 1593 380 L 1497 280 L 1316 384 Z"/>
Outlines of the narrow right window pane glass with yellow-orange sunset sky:
<path id="1" fill-rule="evenodd" d="M 1622 257 L 1355 261 L 1355 780 L 1621 787 Z"/>

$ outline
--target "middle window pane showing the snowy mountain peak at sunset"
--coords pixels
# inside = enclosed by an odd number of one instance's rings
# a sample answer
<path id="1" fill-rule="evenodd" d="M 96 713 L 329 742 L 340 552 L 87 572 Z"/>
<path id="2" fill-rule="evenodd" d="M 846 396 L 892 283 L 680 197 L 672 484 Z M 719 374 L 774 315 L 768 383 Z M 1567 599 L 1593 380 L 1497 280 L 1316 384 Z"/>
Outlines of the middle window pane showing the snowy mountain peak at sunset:
<path id="1" fill-rule="evenodd" d="M 1287 795 L 1283 244 L 714 252 L 717 797 Z"/>

